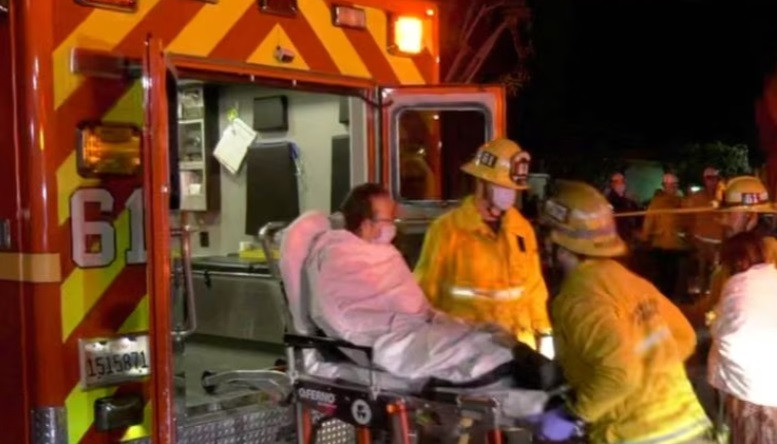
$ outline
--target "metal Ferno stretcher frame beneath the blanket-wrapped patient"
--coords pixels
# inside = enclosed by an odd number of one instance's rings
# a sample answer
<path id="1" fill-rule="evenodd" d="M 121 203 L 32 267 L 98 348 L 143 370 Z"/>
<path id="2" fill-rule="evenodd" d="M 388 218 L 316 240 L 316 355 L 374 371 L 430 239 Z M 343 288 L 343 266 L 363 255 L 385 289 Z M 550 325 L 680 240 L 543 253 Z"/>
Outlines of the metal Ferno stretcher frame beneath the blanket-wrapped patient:
<path id="1" fill-rule="evenodd" d="M 259 233 L 272 276 L 281 285 L 284 300 L 288 304 L 283 279 L 278 266 L 277 251 L 273 239 L 287 224 L 270 222 Z M 286 310 L 287 329 L 291 330 L 291 310 Z M 498 400 L 489 396 L 463 394 L 455 389 L 440 389 L 425 393 L 389 390 L 381 387 L 378 373 L 372 363 L 372 349 L 346 341 L 287 333 L 284 336 L 287 362 L 285 368 L 276 366 L 265 370 L 234 370 L 221 373 L 206 372 L 202 375 L 202 386 L 212 393 L 217 387 L 229 383 L 245 383 L 269 394 L 282 405 L 291 404 L 296 419 L 296 442 L 313 444 L 317 442 L 318 431 L 327 422 L 338 420 L 354 430 L 358 444 L 391 442 L 411 444 L 417 442 L 422 432 L 413 421 L 413 414 L 428 412 L 432 415 L 455 415 L 456 421 L 447 424 L 455 430 L 445 430 L 448 436 L 443 442 L 475 442 L 501 444 L 503 442 L 503 415 Z M 343 349 L 361 353 L 368 362 L 368 383 L 360 384 L 340 379 L 329 379 L 309 374 L 301 364 L 305 352 L 341 353 Z M 358 417 L 357 412 L 366 408 L 368 419 Z M 363 415 L 363 413 L 362 413 Z M 445 426 L 436 426 L 438 431 Z M 529 433 L 525 429 L 514 429 L 514 433 Z M 386 440 L 385 437 L 388 437 Z M 384 439 L 381 439 L 384 438 Z M 439 437 L 438 437 L 439 439 Z M 324 441 L 327 442 L 327 441 Z M 338 441 L 339 442 L 339 441 Z"/>

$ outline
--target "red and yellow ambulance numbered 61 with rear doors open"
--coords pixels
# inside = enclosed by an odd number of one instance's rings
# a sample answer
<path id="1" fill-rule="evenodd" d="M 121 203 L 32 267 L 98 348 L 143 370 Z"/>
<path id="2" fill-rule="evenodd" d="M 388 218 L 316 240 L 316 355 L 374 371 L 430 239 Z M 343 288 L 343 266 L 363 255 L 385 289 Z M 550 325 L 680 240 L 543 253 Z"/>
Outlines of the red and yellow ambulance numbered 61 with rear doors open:
<path id="1" fill-rule="evenodd" d="M 451 172 L 505 133 L 504 92 L 438 84 L 439 16 L 0 0 L 3 442 L 295 442 L 287 403 L 201 380 L 282 357 L 268 222 L 380 182 L 412 263 L 468 191 Z"/>

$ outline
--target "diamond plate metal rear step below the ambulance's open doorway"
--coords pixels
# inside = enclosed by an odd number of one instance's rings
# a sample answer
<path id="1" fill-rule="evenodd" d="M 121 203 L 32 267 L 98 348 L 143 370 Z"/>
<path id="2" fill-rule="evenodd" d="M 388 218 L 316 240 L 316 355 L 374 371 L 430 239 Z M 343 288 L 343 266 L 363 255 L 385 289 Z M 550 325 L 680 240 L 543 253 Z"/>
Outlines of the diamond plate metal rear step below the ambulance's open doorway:
<path id="1" fill-rule="evenodd" d="M 295 443 L 294 409 L 256 405 L 189 418 L 178 427 L 179 444 Z"/>

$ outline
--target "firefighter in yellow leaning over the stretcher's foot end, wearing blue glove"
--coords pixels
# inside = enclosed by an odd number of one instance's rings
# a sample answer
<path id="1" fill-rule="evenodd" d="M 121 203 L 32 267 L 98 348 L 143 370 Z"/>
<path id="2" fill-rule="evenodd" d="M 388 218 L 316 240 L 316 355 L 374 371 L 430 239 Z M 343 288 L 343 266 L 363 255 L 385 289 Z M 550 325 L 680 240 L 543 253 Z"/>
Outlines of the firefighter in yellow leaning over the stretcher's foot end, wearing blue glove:
<path id="1" fill-rule="evenodd" d="M 547 248 L 564 274 L 551 310 L 556 353 L 573 390 L 549 418 L 579 418 L 593 443 L 701 441 L 711 424 L 683 365 L 695 333 L 652 284 L 613 259 L 627 247 L 605 197 L 562 182 L 544 210 Z"/>

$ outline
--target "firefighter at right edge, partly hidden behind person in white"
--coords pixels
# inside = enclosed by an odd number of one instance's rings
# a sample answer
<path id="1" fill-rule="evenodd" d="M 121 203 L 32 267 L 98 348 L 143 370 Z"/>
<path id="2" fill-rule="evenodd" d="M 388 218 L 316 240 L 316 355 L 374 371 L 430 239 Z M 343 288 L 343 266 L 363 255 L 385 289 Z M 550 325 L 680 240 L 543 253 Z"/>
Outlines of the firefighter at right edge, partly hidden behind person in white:
<path id="1" fill-rule="evenodd" d="M 761 214 L 775 213 L 775 205 L 769 200 L 769 192 L 763 182 L 753 176 L 739 176 L 731 179 L 723 193 L 718 209 L 719 223 L 726 238 L 745 231 L 762 235 L 766 261 L 777 265 L 777 239 L 768 233 L 761 233 Z M 710 294 L 701 301 L 705 313 L 709 313 L 720 300 L 723 284 L 731 276 L 731 270 L 719 266 L 712 275 Z M 710 319 L 708 319 L 709 321 Z"/>

